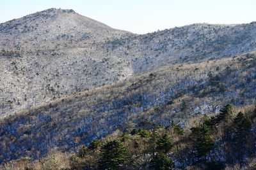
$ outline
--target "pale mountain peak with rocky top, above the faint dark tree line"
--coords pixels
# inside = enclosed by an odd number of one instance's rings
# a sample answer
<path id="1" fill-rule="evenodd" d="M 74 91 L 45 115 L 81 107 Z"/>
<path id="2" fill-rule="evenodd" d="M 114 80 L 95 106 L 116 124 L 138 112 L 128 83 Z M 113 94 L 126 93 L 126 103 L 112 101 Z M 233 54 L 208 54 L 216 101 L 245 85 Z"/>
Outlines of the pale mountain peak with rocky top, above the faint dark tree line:
<path id="1" fill-rule="evenodd" d="M 129 32 L 113 29 L 74 10 L 51 8 L 0 24 L 0 48 L 49 50 L 106 41 L 124 34 Z"/>

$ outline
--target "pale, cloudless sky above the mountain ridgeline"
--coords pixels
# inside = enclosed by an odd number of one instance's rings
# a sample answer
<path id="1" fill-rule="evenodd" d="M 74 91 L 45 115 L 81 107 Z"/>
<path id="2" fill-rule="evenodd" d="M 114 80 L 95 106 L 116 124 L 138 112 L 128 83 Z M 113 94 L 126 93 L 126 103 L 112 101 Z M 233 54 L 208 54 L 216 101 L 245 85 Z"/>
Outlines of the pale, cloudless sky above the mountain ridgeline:
<path id="1" fill-rule="evenodd" d="M 0 23 L 48 8 L 72 9 L 138 34 L 202 22 L 256 21 L 256 0 L 0 0 Z"/>

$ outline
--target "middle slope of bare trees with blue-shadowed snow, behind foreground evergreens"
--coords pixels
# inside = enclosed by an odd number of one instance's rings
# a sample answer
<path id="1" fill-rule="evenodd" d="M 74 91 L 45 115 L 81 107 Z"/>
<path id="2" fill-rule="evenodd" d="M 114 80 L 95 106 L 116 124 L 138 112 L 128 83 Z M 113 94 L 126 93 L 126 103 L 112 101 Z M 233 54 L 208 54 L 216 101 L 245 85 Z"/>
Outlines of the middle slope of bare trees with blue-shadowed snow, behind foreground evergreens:
<path id="1" fill-rule="evenodd" d="M 167 126 L 191 127 L 189 118 L 218 113 L 227 103 L 253 104 L 256 57 L 248 53 L 197 64 L 175 64 L 134 78 L 1 118 L 1 162 L 75 152 L 114 132 Z"/>

